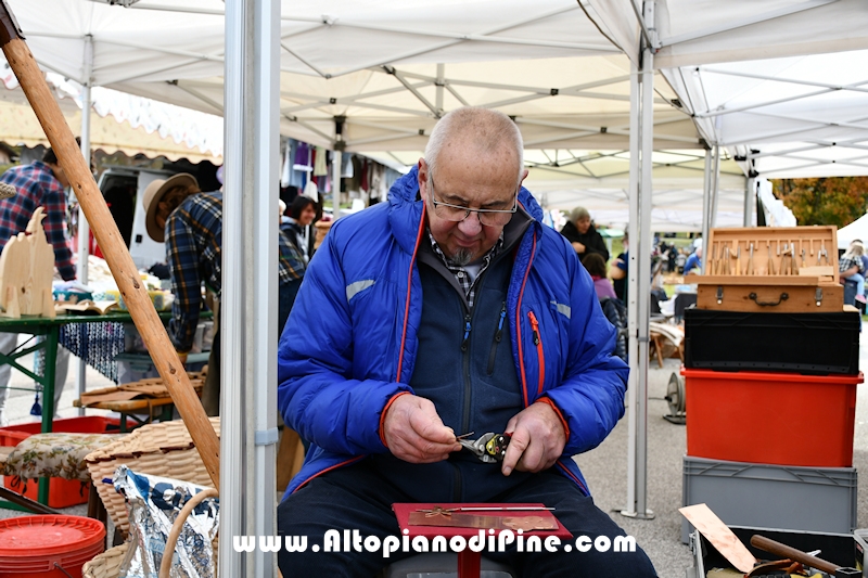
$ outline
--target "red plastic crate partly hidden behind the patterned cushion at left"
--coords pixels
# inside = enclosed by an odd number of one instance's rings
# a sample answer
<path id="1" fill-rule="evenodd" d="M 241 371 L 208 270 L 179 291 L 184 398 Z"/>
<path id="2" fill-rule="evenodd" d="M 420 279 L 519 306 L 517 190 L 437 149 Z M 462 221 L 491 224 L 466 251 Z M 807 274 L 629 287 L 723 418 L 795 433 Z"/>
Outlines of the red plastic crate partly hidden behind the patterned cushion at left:
<path id="1" fill-rule="evenodd" d="M 0 427 L 0 446 L 17 446 L 34 434 L 42 431 L 42 424 L 28 423 L 21 425 L 10 425 Z M 54 420 L 54 433 L 64 434 L 116 434 L 120 431 L 120 420 L 114 418 L 101 418 L 88 415 L 82 418 L 66 418 Z M 15 480 L 16 483 L 13 483 Z M 5 476 L 3 486 L 23 494 L 30 500 L 36 500 L 39 496 L 39 480 L 31 479 L 25 485 L 21 480 Z M 22 491 L 26 490 L 26 491 Z M 68 508 L 88 502 L 88 491 L 90 485 L 81 485 L 75 479 L 51 478 L 49 484 L 48 505 L 51 508 Z M 0 570 L 2 567 L 0 566 Z M 2 577 L 0 573 L 0 577 Z"/>

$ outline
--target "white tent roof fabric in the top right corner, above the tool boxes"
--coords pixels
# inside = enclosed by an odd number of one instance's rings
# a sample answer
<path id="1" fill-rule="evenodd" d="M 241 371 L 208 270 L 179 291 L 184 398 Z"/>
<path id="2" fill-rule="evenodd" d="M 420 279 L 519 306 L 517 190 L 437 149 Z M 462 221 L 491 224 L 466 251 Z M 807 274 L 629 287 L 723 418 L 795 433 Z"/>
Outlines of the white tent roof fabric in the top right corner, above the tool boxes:
<path id="1" fill-rule="evenodd" d="M 588 0 L 638 59 L 631 0 Z M 859 0 L 656 0 L 654 67 L 702 138 L 768 178 L 868 175 L 868 10 Z"/>

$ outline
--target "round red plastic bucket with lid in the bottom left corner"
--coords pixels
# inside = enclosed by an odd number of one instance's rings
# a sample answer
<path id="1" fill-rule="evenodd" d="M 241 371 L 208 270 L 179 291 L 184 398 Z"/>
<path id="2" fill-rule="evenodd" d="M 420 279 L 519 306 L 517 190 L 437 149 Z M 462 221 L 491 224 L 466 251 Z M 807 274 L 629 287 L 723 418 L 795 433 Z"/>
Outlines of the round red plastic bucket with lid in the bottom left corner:
<path id="1" fill-rule="evenodd" d="M 0 519 L 0 578 L 81 578 L 81 566 L 104 547 L 105 527 L 89 517 Z"/>

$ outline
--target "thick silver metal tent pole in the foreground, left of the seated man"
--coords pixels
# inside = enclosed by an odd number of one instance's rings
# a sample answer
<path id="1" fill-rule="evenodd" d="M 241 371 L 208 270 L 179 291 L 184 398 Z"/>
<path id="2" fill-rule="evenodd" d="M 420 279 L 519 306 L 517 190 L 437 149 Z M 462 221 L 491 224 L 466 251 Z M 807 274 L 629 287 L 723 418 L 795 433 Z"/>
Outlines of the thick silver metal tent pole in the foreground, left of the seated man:
<path id="1" fill-rule="evenodd" d="M 226 2 L 220 576 L 277 570 L 231 540 L 277 535 L 279 25 L 276 0 Z"/>

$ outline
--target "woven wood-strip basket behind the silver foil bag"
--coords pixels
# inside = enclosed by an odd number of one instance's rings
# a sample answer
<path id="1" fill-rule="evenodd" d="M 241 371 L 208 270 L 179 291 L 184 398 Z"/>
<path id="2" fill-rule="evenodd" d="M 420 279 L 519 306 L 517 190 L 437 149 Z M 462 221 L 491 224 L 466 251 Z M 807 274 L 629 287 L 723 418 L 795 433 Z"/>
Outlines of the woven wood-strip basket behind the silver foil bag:
<path id="1" fill-rule="evenodd" d="M 219 436 L 220 419 L 212 418 L 210 423 Z M 129 521 L 124 497 L 115 491 L 112 484 L 103 483 L 103 479 L 111 479 L 114 476 L 118 466 L 127 465 L 138 474 L 212 486 L 210 476 L 181 420 L 144 425 L 128 436 L 89 453 L 85 462 L 88 464 L 93 486 L 100 493 L 108 515 L 112 516 L 112 522 L 125 534 L 129 531 Z"/>

